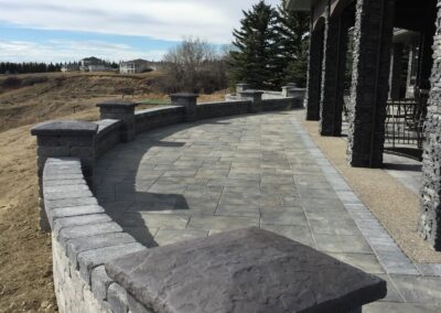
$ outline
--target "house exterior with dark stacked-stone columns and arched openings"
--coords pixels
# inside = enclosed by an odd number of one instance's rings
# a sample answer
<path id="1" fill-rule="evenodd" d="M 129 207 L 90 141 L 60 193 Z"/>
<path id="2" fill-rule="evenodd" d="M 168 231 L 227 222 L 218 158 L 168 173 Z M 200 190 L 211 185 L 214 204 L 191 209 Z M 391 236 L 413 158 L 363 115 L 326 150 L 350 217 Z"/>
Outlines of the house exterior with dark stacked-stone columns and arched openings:
<path id="1" fill-rule="evenodd" d="M 441 250 L 441 0 L 290 0 L 289 6 L 310 12 L 306 119 L 319 121 L 322 136 L 342 132 L 348 32 L 353 35 L 346 149 L 352 166 L 383 166 L 390 99 L 412 97 L 424 107 L 418 233 Z"/>

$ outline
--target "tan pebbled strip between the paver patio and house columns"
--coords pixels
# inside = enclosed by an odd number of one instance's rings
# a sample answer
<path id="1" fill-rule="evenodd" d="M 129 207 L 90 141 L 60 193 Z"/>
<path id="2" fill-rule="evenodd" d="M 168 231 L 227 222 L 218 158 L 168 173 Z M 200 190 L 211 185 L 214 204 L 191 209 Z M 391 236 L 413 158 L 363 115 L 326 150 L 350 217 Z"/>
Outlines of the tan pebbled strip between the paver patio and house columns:
<path id="1" fill-rule="evenodd" d="M 343 138 L 321 137 L 316 121 L 305 121 L 301 114 L 299 120 L 406 255 L 413 262 L 441 263 L 441 252 L 434 251 L 417 233 L 420 215 L 418 196 L 381 169 L 349 166 Z"/>

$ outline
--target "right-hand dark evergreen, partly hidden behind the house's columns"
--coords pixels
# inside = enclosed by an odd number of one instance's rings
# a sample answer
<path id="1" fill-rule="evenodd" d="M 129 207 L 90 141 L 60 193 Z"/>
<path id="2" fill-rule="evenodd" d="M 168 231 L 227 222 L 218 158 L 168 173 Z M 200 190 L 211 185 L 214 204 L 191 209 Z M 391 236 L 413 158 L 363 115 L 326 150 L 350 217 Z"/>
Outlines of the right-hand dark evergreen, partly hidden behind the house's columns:
<path id="1" fill-rule="evenodd" d="M 310 22 L 305 12 L 293 12 L 288 8 L 288 0 L 278 7 L 278 32 L 282 56 L 279 60 L 282 83 L 306 84 L 308 41 Z"/>

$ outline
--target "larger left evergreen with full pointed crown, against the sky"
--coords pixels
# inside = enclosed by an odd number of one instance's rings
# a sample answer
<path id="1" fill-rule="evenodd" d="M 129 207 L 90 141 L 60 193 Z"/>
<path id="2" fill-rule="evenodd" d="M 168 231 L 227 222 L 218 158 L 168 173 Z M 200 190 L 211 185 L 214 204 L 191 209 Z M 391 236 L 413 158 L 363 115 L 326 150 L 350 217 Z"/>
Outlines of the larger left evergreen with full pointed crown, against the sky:
<path id="1" fill-rule="evenodd" d="M 243 11 L 240 29 L 234 30 L 234 50 L 229 55 L 233 84 L 247 82 L 254 88 L 275 88 L 275 56 L 278 55 L 277 11 L 261 0 Z"/>

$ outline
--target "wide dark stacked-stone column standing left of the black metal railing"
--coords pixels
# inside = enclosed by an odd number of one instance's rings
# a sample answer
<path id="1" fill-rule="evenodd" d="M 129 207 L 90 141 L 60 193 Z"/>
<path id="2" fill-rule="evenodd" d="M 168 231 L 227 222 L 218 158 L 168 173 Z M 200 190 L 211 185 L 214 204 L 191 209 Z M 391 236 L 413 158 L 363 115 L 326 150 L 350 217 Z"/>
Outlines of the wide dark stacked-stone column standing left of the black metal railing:
<path id="1" fill-rule="evenodd" d="M 383 164 L 394 4 L 394 0 L 356 1 L 346 151 L 352 166 Z"/>

